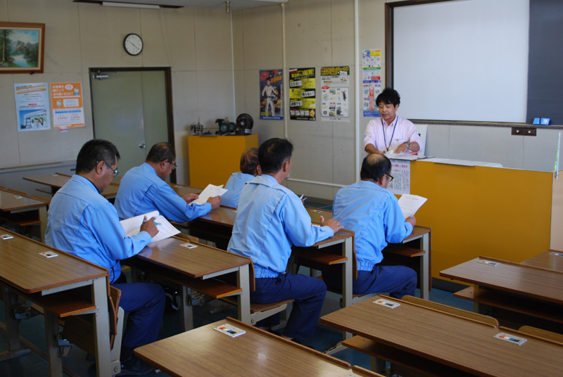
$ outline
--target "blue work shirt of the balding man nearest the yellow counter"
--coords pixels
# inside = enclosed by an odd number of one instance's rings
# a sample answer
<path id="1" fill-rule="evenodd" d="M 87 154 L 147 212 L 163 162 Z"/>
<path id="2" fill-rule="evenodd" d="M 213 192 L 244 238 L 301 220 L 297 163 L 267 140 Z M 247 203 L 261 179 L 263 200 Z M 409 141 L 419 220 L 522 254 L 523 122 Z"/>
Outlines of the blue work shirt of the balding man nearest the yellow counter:
<path id="1" fill-rule="evenodd" d="M 400 243 L 412 233 L 397 198 L 371 181 L 341 188 L 334 197 L 333 218 L 355 233 L 358 271 L 371 271 L 383 260 L 387 243 Z"/>

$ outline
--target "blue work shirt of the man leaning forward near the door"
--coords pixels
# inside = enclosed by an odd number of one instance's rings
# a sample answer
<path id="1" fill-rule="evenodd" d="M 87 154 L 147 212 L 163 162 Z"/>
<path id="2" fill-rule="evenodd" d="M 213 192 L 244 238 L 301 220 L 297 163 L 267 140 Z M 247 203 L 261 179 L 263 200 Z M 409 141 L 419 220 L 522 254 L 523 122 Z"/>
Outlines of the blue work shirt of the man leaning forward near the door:
<path id="1" fill-rule="evenodd" d="M 151 165 L 133 167 L 119 185 L 115 197 L 115 209 L 120 219 L 129 219 L 158 210 L 160 215 L 173 222 L 189 222 L 206 215 L 211 210 L 210 203 L 202 205 L 187 204 L 166 181 L 156 175 Z"/>

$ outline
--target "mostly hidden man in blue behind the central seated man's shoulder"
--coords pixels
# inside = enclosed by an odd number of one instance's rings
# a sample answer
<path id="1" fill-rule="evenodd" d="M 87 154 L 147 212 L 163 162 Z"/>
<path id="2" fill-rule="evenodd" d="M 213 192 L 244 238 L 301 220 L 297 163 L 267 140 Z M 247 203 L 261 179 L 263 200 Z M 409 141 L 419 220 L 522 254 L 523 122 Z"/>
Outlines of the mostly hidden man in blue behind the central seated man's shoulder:
<path id="1" fill-rule="evenodd" d="M 247 149 L 241 155 L 241 171 L 231 174 L 227 184 L 224 185 L 224 188 L 229 191 L 221 196 L 221 205 L 236 208 L 239 205 L 239 197 L 246 182 L 261 174 L 262 170 L 258 163 L 258 148 Z"/>

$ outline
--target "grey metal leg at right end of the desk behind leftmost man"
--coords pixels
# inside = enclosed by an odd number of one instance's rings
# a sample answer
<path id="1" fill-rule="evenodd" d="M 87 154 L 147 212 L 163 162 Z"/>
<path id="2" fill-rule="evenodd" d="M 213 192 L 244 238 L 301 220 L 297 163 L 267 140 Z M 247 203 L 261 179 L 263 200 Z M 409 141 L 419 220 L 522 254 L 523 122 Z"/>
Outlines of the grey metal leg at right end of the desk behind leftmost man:
<path id="1" fill-rule="evenodd" d="M 110 357 L 110 325 L 108 312 L 108 284 L 106 277 L 92 282 L 92 298 L 96 305 L 94 314 L 94 347 L 96 349 L 96 371 L 98 377 L 112 376 Z"/>

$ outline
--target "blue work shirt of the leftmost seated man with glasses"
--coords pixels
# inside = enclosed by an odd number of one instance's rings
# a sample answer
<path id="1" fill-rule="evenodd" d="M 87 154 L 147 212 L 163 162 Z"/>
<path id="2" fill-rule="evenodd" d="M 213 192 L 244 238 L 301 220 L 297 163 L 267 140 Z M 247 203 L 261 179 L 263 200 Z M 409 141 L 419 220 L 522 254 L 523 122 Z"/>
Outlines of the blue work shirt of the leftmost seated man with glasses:
<path id="1" fill-rule="evenodd" d="M 121 274 L 120 260 L 136 255 L 151 240 L 146 231 L 125 236 L 115 207 L 80 175 L 73 175 L 49 204 L 45 243 L 106 267 L 110 283 Z"/>

